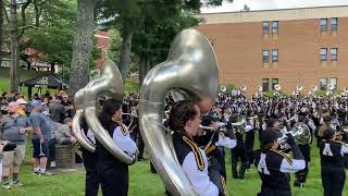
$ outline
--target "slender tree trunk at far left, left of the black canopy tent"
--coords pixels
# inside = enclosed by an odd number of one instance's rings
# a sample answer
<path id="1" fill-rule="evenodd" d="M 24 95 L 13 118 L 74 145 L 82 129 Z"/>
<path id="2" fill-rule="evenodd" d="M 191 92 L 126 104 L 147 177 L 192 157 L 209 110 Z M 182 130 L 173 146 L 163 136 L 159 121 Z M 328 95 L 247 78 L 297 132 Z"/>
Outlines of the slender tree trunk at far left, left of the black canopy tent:
<path id="1" fill-rule="evenodd" d="M 18 90 L 18 41 L 16 38 L 17 34 L 17 19 L 16 19 L 16 0 L 11 0 L 10 2 L 10 38 L 11 38 L 11 70 L 10 70 L 10 82 L 11 90 Z"/>

